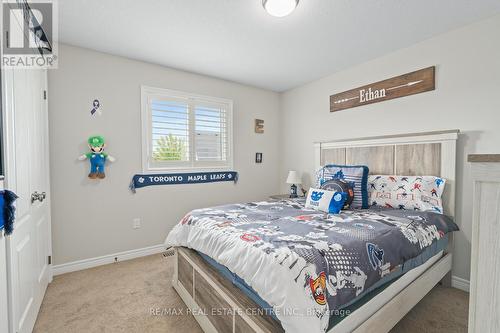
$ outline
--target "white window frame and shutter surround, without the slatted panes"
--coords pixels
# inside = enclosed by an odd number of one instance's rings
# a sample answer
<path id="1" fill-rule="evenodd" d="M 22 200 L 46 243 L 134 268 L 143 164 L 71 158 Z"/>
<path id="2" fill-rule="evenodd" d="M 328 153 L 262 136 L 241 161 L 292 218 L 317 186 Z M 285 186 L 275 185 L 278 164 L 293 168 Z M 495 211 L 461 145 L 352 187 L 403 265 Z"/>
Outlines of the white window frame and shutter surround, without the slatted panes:
<path id="1" fill-rule="evenodd" d="M 185 101 L 189 114 L 189 161 L 154 162 L 152 159 L 152 112 L 149 101 L 152 98 Z M 198 103 L 223 104 L 226 112 L 227 158 L 226 161 L 195 161 L 195 121 L 193 106 Z M 141 85 L 141 123 L 142 123 L 142 171 L 144 173 L 163 172 L 210 172 L 233 169 L 233 101 L 230 99 L 193 94 L 178 90 Z"/>

